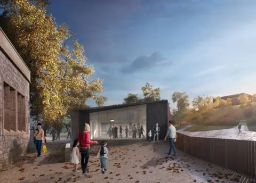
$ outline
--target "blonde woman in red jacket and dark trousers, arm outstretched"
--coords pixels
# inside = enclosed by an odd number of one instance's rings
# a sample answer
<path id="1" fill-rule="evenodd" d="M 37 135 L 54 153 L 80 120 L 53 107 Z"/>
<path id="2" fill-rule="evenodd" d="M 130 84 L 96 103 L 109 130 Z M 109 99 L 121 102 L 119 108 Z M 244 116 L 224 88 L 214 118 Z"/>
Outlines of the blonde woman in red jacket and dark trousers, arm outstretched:
<path id="1" fill-rule="evenodd" d="M 88 123 L 84 124 L 83 132 L 79 133 L 78 142 L 80 143 L 81 168 L 83 174 L 85 174 L 89 161 L 90 144 L 98 144 L 97 141 L 90 140 L 90 125 Z"/>

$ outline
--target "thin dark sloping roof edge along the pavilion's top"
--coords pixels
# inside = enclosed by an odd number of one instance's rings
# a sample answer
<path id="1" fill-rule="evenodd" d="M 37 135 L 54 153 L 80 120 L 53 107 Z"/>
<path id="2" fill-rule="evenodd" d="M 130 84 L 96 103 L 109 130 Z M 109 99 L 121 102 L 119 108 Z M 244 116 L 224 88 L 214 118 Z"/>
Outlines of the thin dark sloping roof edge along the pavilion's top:
<path id="1" fill-rule="evenodd" d="M 124 107 L 132 107 L 137 105 L 145 105 L 145 104 L 155 104 L 155 103 L 166 103 L 168 104 L 167 100 L 161 100 L 161 101 L 154 101 L 154 102 L 139 102 L 136 104 L 118 104 L 118 105 L 108 105 L 108 106 L 102 106 L 102 107 L 89 107 L 84 109 L 75 109 L 74 111 L 88 111 L 88 112 L 99 112 L 99 111 L 108 111 L 113 109 L 121 109 Z"/>

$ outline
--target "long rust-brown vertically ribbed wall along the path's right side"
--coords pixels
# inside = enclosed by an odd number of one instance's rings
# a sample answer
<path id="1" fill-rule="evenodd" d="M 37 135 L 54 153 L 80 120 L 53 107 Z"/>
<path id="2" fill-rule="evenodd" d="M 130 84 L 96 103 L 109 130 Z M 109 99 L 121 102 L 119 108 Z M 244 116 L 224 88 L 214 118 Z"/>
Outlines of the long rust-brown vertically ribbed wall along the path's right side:
<path id="1" fill-rule="evenodd" d="M 256 178 L 255 141 L 190 137 L 177 133 L 175 146 L 199 159 Z"/>

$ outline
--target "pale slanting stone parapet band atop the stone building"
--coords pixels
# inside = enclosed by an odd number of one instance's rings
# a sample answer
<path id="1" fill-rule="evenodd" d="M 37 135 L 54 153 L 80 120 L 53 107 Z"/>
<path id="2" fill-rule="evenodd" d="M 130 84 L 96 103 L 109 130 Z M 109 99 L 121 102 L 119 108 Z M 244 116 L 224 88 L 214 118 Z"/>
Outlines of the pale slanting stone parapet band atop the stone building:
<path id="1" fill-rule="evenodd" d="M 20 73 L 30 82 L 30 70 L 0 27 L 0 49 Z"/>

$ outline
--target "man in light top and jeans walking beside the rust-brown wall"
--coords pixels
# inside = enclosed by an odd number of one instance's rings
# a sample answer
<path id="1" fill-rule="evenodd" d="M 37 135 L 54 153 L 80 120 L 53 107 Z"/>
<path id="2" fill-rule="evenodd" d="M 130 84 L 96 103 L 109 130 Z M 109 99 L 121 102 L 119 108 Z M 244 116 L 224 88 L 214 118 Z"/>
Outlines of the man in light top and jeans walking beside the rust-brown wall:
<path id="1" fill-rule="evenodd" d="M 176 128 L 173 126 L 173 121 L 169 121 L 169 125 L 167 128 L 167 132 L 164 140 L 166 141 L 167 138 L 169 139 L 169 143 L 170 143 L 170 149 L 169 149 L 168 155 L 171 155 L 171 152 L 173 149 L 172 156 L 177 156 L 177 152 L 174 146 L 174 142 L 176 142 L 177 134 L 176 134 Z"/>

